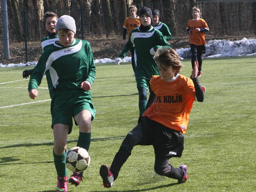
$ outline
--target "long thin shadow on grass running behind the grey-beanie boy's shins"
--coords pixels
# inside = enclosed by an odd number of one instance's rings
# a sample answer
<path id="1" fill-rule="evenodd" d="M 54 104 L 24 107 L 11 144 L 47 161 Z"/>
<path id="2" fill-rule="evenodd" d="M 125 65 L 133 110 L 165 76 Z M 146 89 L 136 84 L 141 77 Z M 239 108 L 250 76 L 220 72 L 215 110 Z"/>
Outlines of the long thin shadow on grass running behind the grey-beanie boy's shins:
<path id="1" fill-rule="evenodd" d="M 95 139 L 91 139 L 91 142 L 104 141 L 104 140 L 115 140 L 115 139 L 124 139 L 124 138 L 125 138 L 125 136 L 95 138 Z M 69 141 L 67 141 L 67 143 L 72 143 L 72 142 L 77 142 L 77 140 L 69 140 Z M 9 145 L 9 146 L 0 147 L 0 149 L 15 148 L 15 147 L 36 147 L 36 146 L 42 146 L 42 145 L 53 146 L 53 142 L 50 142 L 50 143 L 35 143 L 35 144 L 26 143 L 26 144 Z M 9 158 L 9 157 L 5 157 L 5 158 Z M 0 159 L 3 159 L 3 158 L 0 158 Z M 0 163 L 1 163 L 1 161 L 0 161 Z"/>

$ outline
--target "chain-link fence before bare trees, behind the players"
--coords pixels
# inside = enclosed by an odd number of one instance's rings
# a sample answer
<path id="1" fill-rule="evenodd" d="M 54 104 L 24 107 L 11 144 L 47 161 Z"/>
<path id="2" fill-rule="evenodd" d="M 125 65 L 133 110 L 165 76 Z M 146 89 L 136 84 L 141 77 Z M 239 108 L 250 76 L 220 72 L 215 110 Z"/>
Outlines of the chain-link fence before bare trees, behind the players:
<path id="1" fill-rule="evenodd" d="M 173 48 L 188 47 L 186 25 L 192 19 L 190 1 L 174 0 L 169 3 L 143 4 L 160 10 L 160 21 L 167 24 L 173 35 L 169 43 Z M 140 10 L 140 5 L 137 5 Z M 210 39 L 231 37 L 255 37 L 256 0 L 201 0 L 198 3 L 210 31 Z M 67 7 L 47 10 L 61 15 L 70 15 L 76 20 L 76 38 L 90 42 L 95 59 L 114 58 L 122 50 L 123 23 L 128 12 L 124 5 L 110 5 L 107 11 L 102 5 L 83 8 Z M 8 30 L 11 59 L 36 61 L 42 53 L 40 40 L 46 36 L 43 15 L 46 10 L 16 10 L 8 7 Z M 3 11 L 0 26 L 3 26 Z M 106 14 L 108 13 L 108 14 Z M 109 19 L 110 18 L 110 19 Z M 0 58 L 3 59 L 3 31 L 0 31 Z M 1 62 L 0 60 L 0 62 Z"/>

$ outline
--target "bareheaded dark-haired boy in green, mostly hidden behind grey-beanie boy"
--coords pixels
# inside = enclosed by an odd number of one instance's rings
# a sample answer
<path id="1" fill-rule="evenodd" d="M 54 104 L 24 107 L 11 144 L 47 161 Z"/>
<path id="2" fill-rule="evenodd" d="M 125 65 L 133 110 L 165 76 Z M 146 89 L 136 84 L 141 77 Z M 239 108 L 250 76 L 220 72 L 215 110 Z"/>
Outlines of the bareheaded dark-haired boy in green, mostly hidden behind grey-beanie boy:
<path id="1" fill-rule="evenodd" d="M 41 40 L 43 52 L 50 45 L 54 44 L 55 41 L 59 41 L 59 37 L 55 31 L 55 26 L 56 26 L 57 20 L 58 20 L 58 15 L 56 13 L 46 12 L 44 14 L 44 24 L 45 24 L 46 30 L 48 31 L 48 35 Z M 34 69 L 24 70 L 22 72 L 23 78 L 27 79 L 27 77 L 29 77 L 33 73 L 33 70 Z M 46 71 L 45 75 L 46 75 L 46 80 L 47 80 L 47 84 L 48 84 L 50 98 L 52 99 L 52 88 L 53 87 L 52 87 L 52 80 L 50 78 L 49 71 Z"/>

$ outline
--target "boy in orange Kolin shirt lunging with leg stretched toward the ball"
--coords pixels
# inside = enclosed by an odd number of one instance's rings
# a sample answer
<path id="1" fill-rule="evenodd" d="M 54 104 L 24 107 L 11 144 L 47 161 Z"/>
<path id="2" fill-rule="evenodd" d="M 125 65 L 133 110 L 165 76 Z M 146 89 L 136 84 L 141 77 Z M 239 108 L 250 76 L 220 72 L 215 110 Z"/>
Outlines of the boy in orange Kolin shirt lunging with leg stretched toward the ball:
<path id="1" fill-rule="evenodd" d="M 188 128 L 190 110 L 195 100 L 203 102 L 205 88 L 198 81 L 198 63 L 191 79 L 180 75 L 182 63 L 173 49 L 158 49 L 154 57 L 161 76 L 150 80 L 152 104 L 141 117 L 141 122 L 129 132 L 116 153 L 110 168 L 101 165 L 103 186 L 110 188 L 117 179 L 121 167 L 136 145 L 153 145 L 154 170 L 157 174 L 185 183 L 188 180 L 187 166 L 175 168 L 169 164 L 171 157 L 181 157 L 184 136 Z M 151 101 L 151 99 L 149 99 Z"/>

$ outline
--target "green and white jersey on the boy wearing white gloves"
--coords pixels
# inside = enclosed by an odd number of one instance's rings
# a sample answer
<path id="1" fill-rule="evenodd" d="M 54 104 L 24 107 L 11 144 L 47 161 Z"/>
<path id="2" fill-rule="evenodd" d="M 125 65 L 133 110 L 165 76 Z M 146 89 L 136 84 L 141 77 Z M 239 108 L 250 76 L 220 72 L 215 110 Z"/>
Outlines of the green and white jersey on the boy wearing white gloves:
<path id="1" fill-rule="evenodd" d="M 140 31 L 140 28 L 132 29 L 129 40 L 124 46 L 119 58 L 123 59 L 127 52 L 134 46 L 135 78 L 151 79 L 153 75 L 159 75 L 154 56 L 150 54 L 153 47 L 155 52 L 158 48 L 172 48 L 164 39 L 162 33 L 151 26 L 148 31 Z"/>

